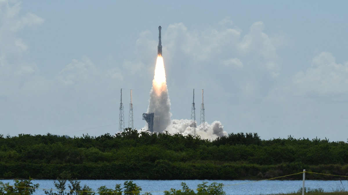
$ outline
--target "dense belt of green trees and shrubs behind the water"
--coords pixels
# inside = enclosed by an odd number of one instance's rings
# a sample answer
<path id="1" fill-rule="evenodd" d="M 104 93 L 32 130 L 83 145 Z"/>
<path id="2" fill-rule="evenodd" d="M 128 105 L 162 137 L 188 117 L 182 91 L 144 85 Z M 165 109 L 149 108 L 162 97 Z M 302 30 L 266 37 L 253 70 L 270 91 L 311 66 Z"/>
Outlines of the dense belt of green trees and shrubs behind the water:
<path id="1" fill-rule="evenodd" d="M 346 175 L 348 144 L 292 136 L 262 140 L 256 133 L 209 141 L 130 128 L 98 137 L 0 134 L 0 178 L 55 179 L 69 171 L 79 179 L 265 179 L 303 169 Z"/>

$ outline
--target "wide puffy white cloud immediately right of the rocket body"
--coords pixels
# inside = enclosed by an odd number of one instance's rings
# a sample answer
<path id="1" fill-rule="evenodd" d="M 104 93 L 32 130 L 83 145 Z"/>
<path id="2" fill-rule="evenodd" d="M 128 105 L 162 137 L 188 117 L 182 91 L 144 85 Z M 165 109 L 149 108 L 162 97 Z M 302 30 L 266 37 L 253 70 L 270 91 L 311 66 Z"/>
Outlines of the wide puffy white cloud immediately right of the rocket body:
<path id="1" fill-rule="evenodd" d="M 163 28 L 164 56 L 171 61 L 175 60 L 174 56 L 181 56 L 192 62 L 191 66 L 233 64 L 230 67 L 249 66 L 250 70 L 267 70 L 272 78 L 279 76 L 281 66 L 277 49 L 285 43 L 282 35 L 266 34 L 261 21 L 253 23 L 244 36 L 238 27 L 230 27 L 233 23 L 229 17 L 219 24 L 217 28 L 201 31 L 189 29 L 183 23 Z"/>

